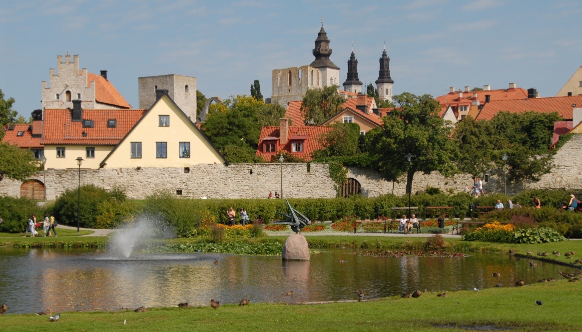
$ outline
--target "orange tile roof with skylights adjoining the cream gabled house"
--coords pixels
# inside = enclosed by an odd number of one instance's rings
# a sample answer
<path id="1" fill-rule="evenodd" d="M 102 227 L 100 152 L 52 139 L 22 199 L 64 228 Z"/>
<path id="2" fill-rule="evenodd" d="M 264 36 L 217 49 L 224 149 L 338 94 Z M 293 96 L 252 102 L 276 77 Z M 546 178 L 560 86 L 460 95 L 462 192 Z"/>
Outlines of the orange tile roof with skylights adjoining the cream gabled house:
<path id="1" fill-rule="evenodd" d="M 83 109 L 83 119 L 95 122 L 93 128 L 83 128 L 82 121 L 71 122 L 68 109 L 45 109 L 41 143 L 116 145 L 145 112 L 145 109 Z M 115 128 L 107 127 L 109 119 L 117 120 Z"/>

